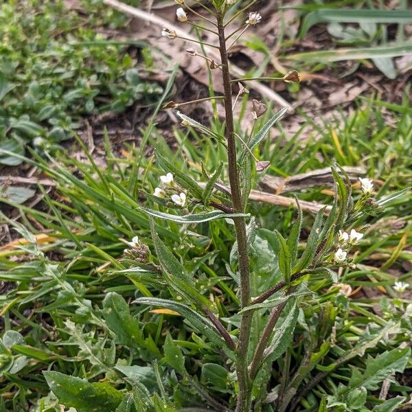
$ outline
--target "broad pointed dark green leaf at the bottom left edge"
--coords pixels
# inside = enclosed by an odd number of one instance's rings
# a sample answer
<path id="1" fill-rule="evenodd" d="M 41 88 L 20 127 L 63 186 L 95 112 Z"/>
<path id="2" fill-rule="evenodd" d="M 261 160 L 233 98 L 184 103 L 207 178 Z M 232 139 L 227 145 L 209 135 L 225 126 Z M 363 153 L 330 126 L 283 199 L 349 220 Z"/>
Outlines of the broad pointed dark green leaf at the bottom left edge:
<path id="1" fill-rule="evenodd" d="M 113 412 L 122 401 L 122 393 L 108 383 L 89 383 L 55 371 L 43 371 L 43 375 L 60 403 L 77 412 Z"/>

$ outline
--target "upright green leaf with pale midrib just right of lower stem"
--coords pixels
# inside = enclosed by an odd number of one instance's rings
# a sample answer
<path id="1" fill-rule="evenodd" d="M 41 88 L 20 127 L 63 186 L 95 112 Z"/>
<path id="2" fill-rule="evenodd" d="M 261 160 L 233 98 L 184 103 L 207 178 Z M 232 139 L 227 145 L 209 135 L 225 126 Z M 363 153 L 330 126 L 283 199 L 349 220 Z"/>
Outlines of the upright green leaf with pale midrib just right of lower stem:
<path id="1" fill-rule="evenodd" d="M 275 333 L 271 338 L 271 343 L 263 354 L 264 362 L 276 361 L 281 356 L 288 346 L 293 341 L 293 331 L 297 323 L 297 315 L 299 308 L 295 297 L 290 299 L 282 311 L 282 316 L 276 322 Z"/>

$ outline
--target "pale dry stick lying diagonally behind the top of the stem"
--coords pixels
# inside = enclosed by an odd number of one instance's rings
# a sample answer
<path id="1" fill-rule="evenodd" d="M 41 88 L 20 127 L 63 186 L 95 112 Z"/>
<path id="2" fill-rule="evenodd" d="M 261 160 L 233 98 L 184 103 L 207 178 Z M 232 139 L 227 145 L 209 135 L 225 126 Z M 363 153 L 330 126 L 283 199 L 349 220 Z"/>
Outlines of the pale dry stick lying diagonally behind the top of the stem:
<path id="1" fill-rule="evenodd" d="M 188 39 L 194 40 L 194 41 L 197 40 L 196 38 L 194 38 L 194 36 L 192 36 L 189 33 L 185 32 L 185 30 L 181 30 L 180 27 L 174 25 L 173 23 L 171 23 L 168 20 L 162 19 L 159 16 L 155 16 L 155 14 L 145 12 L 144 10 L 140 10 L 138 8 L 132 7 L 131 5 L 124 4 L 121 1 L 117 1 L 117 0 L 103 0 L 103 3 L 106 4 L 106 5 L 111 6 L 112 8 L 114 8 L 116 10 L 119 10 L 121 12 L 129 14 L 130 16 L 137 17 L 137 19 L 141 19 L 141 20 L 144 20 L 144 21 L 149 21 L 150 23 L 153 23 L 153 24 L 159 26 L 160 28 L 168 27 L 171 30 L 174 30 L 178 36 L 185 37 L 185 38 L 188 38 Z M 160 30 L 159 30 L 159 33 L 160 33 Z M 159 36 L 160 36 L 160 34 L 159 34 Z M 218 56 L 218 54 L 216 52 L 214 52 L 213 48 L 208 47 L 206 45 L 203 46 L 203 47 L 207 51 L 207 56 L 209 56 L 210 58 L 213 58 L 216 61 L 220 60 L 220 57 Z M 197 45 L 196 43 L 191 42 L 191 48 L 192 49 L 197 48 L 198 52 L 203 54 L 203 52 L 201 50 L 201 47 L 199 45 Z M 240 69 L 240 67 L 238 67 L 236 65 L 233 65 L 233 64 L 231 65 L 231 72 L 233 73 L 234 76 L 236 76 L 238 78 L 243 78 L 244 76 L 246 76 L 245 71 L 243 71 L 242 69 Z M 294 111 L 293 107 L 288 102 L 286 102 L 286 100 L 284 100 L 284 98 L 279 96 L 272 89 L 269 89 L 268 87 L 266 87 L 264 84 L 262 84 L 260 82 L 251 82 L 248 85 L 248 87 L 251 88 L 251 89 L 255 89 L 255 91 L 258 91 L 258 93 L 260 93 L 262 96 L 268 98 L 269 100 L 273 100 L 273 102 L 276 102 L 280 106 L 287 107 L 289 113 L 293 113 L 293 111 Z"/>

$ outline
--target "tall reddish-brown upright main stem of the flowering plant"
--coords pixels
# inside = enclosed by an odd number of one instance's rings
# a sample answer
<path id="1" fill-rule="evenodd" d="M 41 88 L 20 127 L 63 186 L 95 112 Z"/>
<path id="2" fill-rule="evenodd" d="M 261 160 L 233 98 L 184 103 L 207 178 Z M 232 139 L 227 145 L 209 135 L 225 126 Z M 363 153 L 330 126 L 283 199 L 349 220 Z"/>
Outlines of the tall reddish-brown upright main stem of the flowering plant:
<path id="1" fill-rule="evenodd" d="M 229 163 L 229 182 L 231 187 L 231 198 L 235 213 L 242 213 L 242 192 L 240 190 L 238 164 L 236 159 L 236 136 L 233 124 L 232 93 L 229 72 L 229 59 L 227 58 L 225 27 L 223 15 L 220 10 L 217 13 L 219 50 L 222 62 L 222 78 L 225 95 L 226 115 L 226 140 L 227 159 Z M 241 307 L 248 306 L 251 301 L 251 286 L 249 279 L 249 255 L 247 251 L 247 232 L 244 218 L 233 218 L 238 242 L 238 267 L 240 273 L 240 302 Z M 236 403 L 236 412 L 249 412 L 251 409 L 251 382 L 248 374 L 247 354 L 252 323 L 251 312 L 244 312 L 240 321 L 239 343 L 237 348 L 236 374 L 238 376 L 239 393 Z"/>

